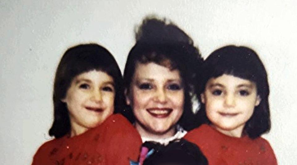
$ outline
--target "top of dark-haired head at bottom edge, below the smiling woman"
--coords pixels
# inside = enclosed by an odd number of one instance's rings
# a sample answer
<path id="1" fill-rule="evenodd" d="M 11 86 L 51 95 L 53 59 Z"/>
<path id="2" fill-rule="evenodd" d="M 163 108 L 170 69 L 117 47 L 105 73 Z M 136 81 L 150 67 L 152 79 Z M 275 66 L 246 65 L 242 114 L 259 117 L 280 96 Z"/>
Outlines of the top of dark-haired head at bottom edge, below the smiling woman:
<path id="1" fill-rule="evenodd" d="M 145 142 L 143 146 L 154 149 L 143 165 L 208 165 L 208 160 L 199 147 L 184 139 L 178 139 L 163 146 L 156 142 Z"/>

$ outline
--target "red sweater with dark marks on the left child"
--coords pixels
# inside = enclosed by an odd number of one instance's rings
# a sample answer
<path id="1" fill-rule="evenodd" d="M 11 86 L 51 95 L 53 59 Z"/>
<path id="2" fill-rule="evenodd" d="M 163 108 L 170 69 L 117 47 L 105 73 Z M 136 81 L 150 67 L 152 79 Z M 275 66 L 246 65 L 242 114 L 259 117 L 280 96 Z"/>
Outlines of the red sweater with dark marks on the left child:
<path id="1" fill-rule="evenodd" d="M 32 165 L 127 165 L 130 159 L 137 160 L 141 143 L 130 122 L 115 114 L 83 134 L 45 142 L 34 155 Z"/>

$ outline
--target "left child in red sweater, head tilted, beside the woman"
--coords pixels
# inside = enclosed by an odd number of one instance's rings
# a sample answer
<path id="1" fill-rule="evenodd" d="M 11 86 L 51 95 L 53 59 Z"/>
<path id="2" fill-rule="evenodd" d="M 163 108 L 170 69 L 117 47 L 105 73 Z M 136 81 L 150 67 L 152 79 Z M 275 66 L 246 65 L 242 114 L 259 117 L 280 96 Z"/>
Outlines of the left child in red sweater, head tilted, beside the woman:
<path id="1" fill-rule="evenodd" d="M 141 138 L 121 115 L 122 75 L 104 47 L 84 44 L 63 55 L 54 80 L 54 122 L 33 165 L 128 164 Z"/>

